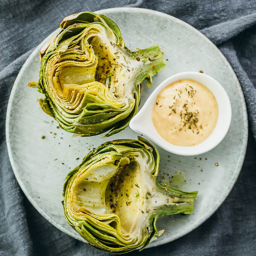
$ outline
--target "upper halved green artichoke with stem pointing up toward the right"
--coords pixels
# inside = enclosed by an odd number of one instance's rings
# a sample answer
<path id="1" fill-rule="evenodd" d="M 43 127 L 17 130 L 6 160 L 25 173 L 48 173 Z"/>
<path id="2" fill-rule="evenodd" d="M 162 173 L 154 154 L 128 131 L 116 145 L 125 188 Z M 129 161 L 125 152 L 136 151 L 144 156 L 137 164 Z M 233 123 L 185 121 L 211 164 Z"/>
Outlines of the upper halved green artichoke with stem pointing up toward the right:
<path id="1" fill-rule="evenodd" d="M 93 136 L 118 133 L 137 113 L 141 82 L 165 66 L 157 45 L 131 52 L 113 20 L 92 12 L 70 15 L 41 49 L 43 111 L 66 131 Z"/>

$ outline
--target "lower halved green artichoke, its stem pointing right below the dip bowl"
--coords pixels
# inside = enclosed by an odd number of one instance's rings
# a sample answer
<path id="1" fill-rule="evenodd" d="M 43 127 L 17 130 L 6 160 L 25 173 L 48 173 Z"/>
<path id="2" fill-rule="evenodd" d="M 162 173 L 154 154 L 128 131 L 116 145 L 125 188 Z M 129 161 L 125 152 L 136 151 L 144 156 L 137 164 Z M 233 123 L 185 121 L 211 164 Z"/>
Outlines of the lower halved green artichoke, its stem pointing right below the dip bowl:
<path id="1" fill-rule="evenodd" d="M 192 213 L 195 192 L 157 180 L 159 154 L 148 141 L 114 140 L 89 152 L 64 184 L 67 222 L 88 243 L 121 254 L 143 249 L 163 214 Z"/>

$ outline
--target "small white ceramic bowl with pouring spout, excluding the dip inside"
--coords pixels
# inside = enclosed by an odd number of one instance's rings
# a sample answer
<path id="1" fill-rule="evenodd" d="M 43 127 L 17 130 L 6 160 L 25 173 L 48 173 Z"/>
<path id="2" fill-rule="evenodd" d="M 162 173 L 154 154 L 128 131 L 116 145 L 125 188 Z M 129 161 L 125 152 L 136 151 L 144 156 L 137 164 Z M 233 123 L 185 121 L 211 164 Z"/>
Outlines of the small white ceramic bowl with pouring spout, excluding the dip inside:
<path id="1" fill-rule="evenodd" d="M 153 105 L 160 91 L 173 82 L 183 79 L 191 79 L 205 85 L 213 93 L 218 104 L 218 120 L 214 130 L 209 137 L 195 146 L 176 146 L 167 142 L 158 134 L 152 122 Z M 231 116 L 229 96 L 219 82 L 200 72 L 183 72 L 167 78 L 151 93 L 141 110 L 130 121 L 130 128 L 173 154 L 199 155 L 210 151 L 224 139 L 229 130 Z"/>

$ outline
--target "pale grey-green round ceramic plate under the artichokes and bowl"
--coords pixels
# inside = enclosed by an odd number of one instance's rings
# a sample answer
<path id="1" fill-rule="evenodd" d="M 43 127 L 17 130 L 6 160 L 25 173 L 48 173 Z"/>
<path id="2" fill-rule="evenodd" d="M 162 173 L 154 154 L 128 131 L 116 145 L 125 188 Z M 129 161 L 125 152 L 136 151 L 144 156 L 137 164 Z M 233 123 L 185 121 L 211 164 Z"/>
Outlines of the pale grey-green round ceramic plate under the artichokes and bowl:
<path id="1" fill-rule="evenodd" d="M 149 247 L 165 244 L 185 235 L 209 218 L 235 184 L 247 145 L 248 122 L 244 96 L 235 73 L 222 53 L 194 27 L 172 16 L 147 9 L 115 8 L 98 13 L 116 21 L 126 46 L 131 50 L 158 43 L 168 59 L 166 67 L 154 76 L 152 88 L 143 84 L 140 107 L 168 76 L 185 71 L 199 72 L 200 69 L 215 78 L 230 98 L 232 122 L 229 132 L 212 151 L 195 158 L 172 155 L 158 148 L 160 180 L 163 175 L 167 181 L 172 181 L 171 185 L 182 190 L 199 190 L 192 215 L 163 216 L 158 219 L 158 229 L 165 229 L 166 232 Z M 30 81 L 38 81 L 39 51 L 43 43 L 29 56 L 12 88 L 6 118 L 9 157 L 21 189 L 38 212 L 58 229 L 83 241 L 66 223 L 63 215 L 62 186 L 67 173 L 80 164 L 90 149 L 102 142 L 136 138 L 138 134 L 127 127 L 107 139 L 101 136 L 72 137 L 71 133 L 58 129 L 58 123 L 39 107 L 37 99 L 42 94 L 27 86 Z M 41 136 L 45 136 L 45 139 L 41 139 Z"/>

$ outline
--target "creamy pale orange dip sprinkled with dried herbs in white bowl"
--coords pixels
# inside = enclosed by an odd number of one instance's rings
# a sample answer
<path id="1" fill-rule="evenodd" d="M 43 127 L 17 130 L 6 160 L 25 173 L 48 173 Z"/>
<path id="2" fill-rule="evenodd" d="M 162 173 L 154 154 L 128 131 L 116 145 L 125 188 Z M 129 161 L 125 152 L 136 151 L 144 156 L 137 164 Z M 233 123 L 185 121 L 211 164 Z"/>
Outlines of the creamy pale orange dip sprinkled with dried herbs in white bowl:
<path id="1" fill-rule="evenodd" d="M 203 142 L 217 119 L 218 104 L 212 92 L 190 79 L 174 82 L 160 91 L 152 111 L 157 132 L 177 146 Z"/>

